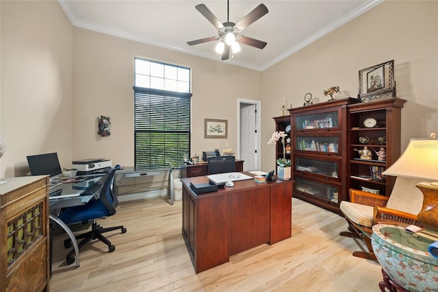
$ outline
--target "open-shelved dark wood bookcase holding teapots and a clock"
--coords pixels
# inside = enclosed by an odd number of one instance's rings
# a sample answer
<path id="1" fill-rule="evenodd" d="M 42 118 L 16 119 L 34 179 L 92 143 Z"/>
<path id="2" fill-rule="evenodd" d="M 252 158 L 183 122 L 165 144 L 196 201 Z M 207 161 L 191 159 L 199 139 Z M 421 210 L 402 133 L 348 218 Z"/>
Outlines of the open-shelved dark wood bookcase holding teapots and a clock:
<path id="1" fill-rule="evenodd" d="M 401 110 L 405 102 L 391 98 L 348 106 L 348 188 L 391 194 L 396 178 L 381 173 L 400 156 Z M 371 159 L 360 158 L 358 150 L 363 151 L 365 146 L 371 151 Z M 380 160 L 379 151 L 386 155 Z"/>

